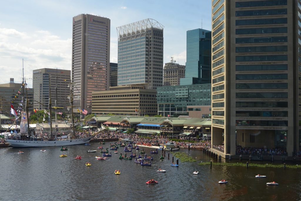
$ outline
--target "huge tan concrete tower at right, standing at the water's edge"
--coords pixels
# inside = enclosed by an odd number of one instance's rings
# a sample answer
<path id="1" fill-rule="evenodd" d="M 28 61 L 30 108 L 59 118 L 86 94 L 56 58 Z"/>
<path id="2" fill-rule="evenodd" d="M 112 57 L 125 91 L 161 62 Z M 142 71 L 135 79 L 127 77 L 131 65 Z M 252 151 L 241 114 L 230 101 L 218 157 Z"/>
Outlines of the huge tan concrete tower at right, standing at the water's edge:
<path id="1" fill-rule="evenodd" d="M 299 0 L 212 1 L 212 147 L 224 143 L 224 157 L 236 146 L 299 151 L 300 9 Z"/>

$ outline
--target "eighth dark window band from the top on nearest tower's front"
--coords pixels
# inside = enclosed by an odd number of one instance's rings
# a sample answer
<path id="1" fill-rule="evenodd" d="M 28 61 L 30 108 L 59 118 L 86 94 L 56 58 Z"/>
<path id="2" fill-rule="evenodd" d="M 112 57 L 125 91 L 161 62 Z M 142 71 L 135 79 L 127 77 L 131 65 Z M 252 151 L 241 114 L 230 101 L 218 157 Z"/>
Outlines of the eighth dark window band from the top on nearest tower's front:
<path id="1" fill-rule="evenodd" d="M 280 71 L 287 70 L 287 64 L 236 65 L 236 71 Z"/>

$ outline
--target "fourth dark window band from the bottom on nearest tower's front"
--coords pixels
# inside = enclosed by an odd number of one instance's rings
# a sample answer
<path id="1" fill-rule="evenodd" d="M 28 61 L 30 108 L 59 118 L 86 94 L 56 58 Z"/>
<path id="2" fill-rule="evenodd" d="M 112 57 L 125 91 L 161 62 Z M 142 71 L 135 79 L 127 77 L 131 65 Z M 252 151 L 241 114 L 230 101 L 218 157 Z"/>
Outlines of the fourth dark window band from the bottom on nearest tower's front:
<path id="1" fill-rule="evenodd" d="M 236 93 L 236 98 L 238 99 L 262 99 L 262 98 L 287 98 L 288 94 L 286 92 L 266 92 L 266 93 Z"/>

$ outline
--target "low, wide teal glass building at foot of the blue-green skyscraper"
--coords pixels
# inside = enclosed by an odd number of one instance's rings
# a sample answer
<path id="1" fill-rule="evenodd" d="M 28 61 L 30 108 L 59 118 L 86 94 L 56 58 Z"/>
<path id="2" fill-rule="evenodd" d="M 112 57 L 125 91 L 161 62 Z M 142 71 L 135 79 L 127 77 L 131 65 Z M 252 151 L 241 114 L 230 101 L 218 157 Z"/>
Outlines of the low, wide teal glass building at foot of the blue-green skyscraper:
<path id="1" fill-rule="evenodd" d="M 210 106 L 211 84 L 162 86 L 157 88 L 158 115 L 188 116 L 187 106 Z M 199 117 L 201 118 L 201 117 Z"/>

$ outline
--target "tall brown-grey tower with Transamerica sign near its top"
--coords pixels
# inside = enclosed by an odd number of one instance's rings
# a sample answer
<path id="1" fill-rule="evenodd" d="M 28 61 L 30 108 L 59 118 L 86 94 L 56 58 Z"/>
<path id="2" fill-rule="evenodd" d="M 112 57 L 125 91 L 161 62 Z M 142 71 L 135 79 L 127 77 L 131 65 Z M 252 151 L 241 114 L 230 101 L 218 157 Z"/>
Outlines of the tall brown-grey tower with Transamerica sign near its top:
<path id="1" fill-rule="evenodd" d="M 74 111 L 92 107 L 92 91 L 109 90 L 110 19 L 90 14 L 73 17 L 72 90 Z"/>

